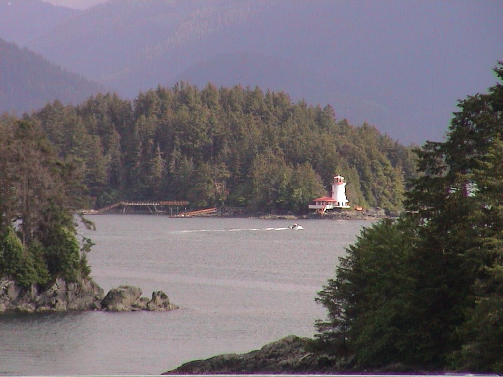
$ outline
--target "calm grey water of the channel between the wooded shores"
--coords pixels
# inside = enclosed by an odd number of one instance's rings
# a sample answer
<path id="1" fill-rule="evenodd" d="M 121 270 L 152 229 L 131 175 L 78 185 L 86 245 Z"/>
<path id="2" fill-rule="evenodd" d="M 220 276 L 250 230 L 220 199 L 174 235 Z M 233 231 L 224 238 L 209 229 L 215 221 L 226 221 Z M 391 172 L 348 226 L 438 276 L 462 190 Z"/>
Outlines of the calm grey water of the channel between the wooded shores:
<path id="1" fill-rule="evenodd" d="M 289 334 L 312 336 L 314 298 L 368 221 L 89 216 L 92 276 L 164 291 L 172 312 L 0 317 L 0 374 L 158 374 L 241 353 Z"/>

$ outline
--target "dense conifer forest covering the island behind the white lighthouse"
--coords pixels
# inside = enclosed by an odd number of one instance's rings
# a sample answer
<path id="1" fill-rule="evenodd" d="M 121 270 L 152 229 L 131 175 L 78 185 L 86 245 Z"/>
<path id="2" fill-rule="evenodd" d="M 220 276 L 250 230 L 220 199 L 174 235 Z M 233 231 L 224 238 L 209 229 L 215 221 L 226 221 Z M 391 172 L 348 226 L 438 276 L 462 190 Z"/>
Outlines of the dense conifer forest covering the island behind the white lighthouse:
<path id="1" fill-rule="evenodd" d="M 410 148 L 374 127 L 258 87 L 181 82 L 132 102 L 109 94 L 78 106 L 55 101 L 29 119 L 75 166 L 94 207 L 188 200 L 303 212 L 341 174 L 352 204 L 396 211 L 414 174 Z"/>

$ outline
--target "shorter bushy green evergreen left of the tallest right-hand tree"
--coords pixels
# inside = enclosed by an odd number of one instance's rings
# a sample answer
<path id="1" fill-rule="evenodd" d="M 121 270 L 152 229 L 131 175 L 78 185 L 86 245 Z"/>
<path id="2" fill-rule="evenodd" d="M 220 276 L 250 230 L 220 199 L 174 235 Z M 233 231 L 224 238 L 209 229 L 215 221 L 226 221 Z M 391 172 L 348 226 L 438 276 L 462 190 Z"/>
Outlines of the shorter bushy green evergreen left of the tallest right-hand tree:
<path id="1" fill-rule="evenodd" d="M 328 311 L 318 321 L 324 349 L 353 358 L 354 367 L 403 362 L 412 351 L 407 295 L 412 287 L 407 260 L 413 246 L 407 224 L 384 220 L 364 229 L 340 259 L 337 277 L 319 292 Z"/>

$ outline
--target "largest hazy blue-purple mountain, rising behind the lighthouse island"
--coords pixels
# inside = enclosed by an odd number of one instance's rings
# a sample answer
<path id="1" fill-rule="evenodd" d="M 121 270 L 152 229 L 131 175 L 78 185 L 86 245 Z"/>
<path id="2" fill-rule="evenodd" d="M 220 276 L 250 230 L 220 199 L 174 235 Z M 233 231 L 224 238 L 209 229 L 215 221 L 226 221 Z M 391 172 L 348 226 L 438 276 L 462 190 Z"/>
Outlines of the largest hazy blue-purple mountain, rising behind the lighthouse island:
<path id="1" fill-rule="evenodd" d="M 498 2 L 110 0 L 29 46 L 129 98 L 179 79 L 283 88 L 423 143 L 494 84 L 501 19 Z"/>

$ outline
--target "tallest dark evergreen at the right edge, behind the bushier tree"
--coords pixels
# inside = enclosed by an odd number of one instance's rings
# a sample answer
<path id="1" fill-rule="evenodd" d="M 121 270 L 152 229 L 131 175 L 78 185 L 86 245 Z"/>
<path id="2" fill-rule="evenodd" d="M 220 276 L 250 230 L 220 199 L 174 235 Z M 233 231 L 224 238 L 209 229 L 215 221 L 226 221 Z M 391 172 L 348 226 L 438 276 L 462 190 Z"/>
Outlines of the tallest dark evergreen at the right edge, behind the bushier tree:
<path id="1" fill-rule="evenodd" d="M 500 79 L 501 72 L 500 65 Z M 503 129 L 499 88 L 460 102 L 447 140 L 430 143 L 420 153 L 426 175 L 413 182 L 408 197 L 409 216 L 421 224 L 412 261 L 415 336 L 423 343 L 416 355 L 434 364 L 444 364 L 467 341 L 458 330 L 481 299 L 481 279 L 501 261 L 494 257 L 501 248 L 493 246 L 503 221 L 493 210 L 500 198 L 486 180 L 497 186 L 503 176 L 497 170 Z"/>

